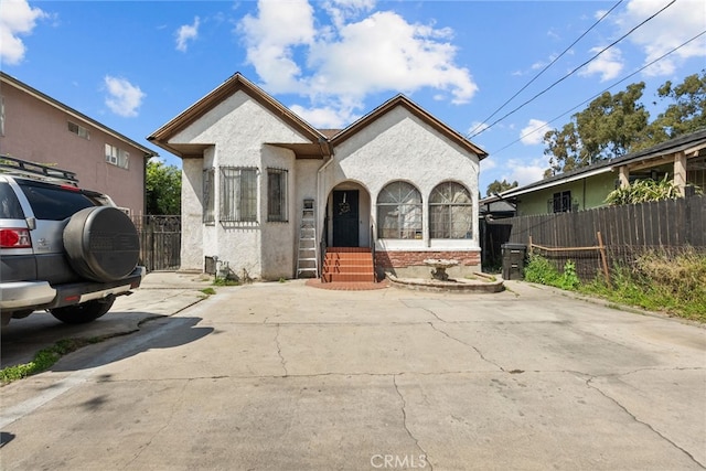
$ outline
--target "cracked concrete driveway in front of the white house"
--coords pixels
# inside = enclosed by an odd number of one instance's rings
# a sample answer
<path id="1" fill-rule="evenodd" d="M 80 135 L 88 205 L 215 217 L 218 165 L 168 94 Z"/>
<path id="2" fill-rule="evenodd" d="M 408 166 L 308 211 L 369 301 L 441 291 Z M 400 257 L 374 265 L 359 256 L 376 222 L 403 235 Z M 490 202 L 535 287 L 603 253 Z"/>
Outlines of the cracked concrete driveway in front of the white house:
<path id="1" fill-rule="evenodd" d="M 218 288 L 3 387 L 0 467 L 704 469 L 706 330 L 507 286 Z"/>

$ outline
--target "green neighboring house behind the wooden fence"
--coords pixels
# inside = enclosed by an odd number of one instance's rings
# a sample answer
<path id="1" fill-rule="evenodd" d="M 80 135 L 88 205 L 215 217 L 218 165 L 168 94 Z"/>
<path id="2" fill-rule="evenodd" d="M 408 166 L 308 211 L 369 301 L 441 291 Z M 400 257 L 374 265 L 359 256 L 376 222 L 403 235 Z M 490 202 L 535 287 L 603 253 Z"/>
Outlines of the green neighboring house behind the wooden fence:
<path id="1" fill-rule="evenodd" d="M 518 216 L 590 210 L 606 205 L 608 194 L 639 179 L 674 181 L 706 191 L 706 129 L 662 142 L 649 149 L 504 191 Z M 493 202 L 496 196 L 481 201 Z"/>

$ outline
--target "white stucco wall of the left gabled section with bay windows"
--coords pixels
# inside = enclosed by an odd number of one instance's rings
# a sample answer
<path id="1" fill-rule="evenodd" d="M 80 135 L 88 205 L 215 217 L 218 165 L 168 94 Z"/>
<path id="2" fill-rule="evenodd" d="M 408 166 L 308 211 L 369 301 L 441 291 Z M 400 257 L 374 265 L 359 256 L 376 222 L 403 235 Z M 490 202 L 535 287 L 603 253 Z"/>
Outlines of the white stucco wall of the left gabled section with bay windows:
<path id="1" fill-rule="evenodd" d="M 217 256 L 227 261 L 238 277 L 277 279 L 293 275 L 295 228 L 299 218 L 296 212 L 293 152 L 266 146 L 266 142 L 307 142 L 288 125 L 271 115 L 247 94 L 237 92 L 226 98 L 186 129 L 170 139 L 172 143 L 208 143 L 212 148 L 204 159 L 194 159 L 184 165 L 184 180 L 192 182 L 182 193 L 185 211 L 185 232 L 182 242 L 182 269 L 203 268 L 205 256 Z M 192 162 L 185 159 L 184 162 Z M 201 165 L 201 167 L 200 167 Z M 214 167 L 215 213 L 212 225 L 202 223 L 203 170 Z M 258 169 L 257 223 L 221 224 L 221 167 L 255 167 Z M 267 168 L 289 170 L 289 222 L 267 223 Z M 314 186 L 315 188 L 315 186 Z"/>

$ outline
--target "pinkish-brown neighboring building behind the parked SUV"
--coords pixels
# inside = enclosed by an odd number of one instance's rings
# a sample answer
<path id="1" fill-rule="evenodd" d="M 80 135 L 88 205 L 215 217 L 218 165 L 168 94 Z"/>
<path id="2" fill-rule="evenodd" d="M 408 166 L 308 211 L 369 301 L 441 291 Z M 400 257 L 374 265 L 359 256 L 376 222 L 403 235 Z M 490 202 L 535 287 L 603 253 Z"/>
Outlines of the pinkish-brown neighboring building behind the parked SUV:
<path id="1" fill-rule="evenodd" d="M 76 173 L 130 214 L 145 213 L 145 165 L 157 153 L 0 72 L 0 157 Z"/>

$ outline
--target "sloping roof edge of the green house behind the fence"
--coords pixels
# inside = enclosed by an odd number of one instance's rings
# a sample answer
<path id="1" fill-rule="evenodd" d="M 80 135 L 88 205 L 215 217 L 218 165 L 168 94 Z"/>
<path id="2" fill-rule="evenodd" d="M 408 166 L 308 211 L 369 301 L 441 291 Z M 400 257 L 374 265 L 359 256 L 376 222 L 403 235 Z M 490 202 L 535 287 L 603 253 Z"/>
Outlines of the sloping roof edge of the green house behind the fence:
<path id="1" fill-rule="evenodd" d="M 548 179 L 538 180 L 524 186 L 506 190 L 502 192 L 501 195 L 503 197 L 512 197 L 532 191 L 558 186 L 600 173 L 612 172 L 614 169 L 623 165 L 628 165 L 630 169 L 657 167 L 671 162 L 677 152 L 685 152 L 687 157 L 693 157 L 696 153 L 703 152 L 704 149 L 706 149 L 706 128 L 617 159 L 605 160 L 570 172 L 558 173 Z"/>

